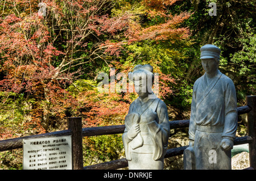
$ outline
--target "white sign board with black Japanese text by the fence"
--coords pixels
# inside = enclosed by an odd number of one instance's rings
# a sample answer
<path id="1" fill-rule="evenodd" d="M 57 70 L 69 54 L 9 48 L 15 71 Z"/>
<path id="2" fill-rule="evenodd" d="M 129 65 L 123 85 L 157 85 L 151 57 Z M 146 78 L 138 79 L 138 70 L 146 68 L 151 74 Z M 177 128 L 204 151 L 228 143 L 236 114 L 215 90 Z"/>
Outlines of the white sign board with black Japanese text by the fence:
<path id="1" fill-rule="evenodd" d="M 71 136 L 23 140 L 23 170 L 72 170 Z"/>

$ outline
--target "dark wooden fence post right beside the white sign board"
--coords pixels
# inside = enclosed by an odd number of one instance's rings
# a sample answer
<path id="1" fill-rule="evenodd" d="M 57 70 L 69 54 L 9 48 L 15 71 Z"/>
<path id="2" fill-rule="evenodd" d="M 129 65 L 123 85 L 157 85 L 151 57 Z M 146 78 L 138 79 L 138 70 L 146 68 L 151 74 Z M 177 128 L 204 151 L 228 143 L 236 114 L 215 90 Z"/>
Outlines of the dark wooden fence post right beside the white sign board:
<path id="1" fill-rule="evenodd" d="M 68 117 L 68 129 L 72 131 L 73 170 L 82 170 L 82 118 Z"/>

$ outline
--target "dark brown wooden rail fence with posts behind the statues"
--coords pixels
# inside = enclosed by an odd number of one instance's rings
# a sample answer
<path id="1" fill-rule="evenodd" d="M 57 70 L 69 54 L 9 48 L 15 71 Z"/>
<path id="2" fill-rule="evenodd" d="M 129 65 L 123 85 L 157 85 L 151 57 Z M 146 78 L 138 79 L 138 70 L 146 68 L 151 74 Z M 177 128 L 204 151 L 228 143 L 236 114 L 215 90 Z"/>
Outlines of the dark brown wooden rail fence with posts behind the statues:
<path id="1" fill-rule="evenodd" d="M 250 167 L 247 169 L 256 169 L 256 96 L 246 96 L 246 106 L 238 107 L 238 115 L 247 113 L 247 132 L 248 136 L 237 137 L 234 145 L 249 144 Z M 170 121 L 170 128 L 187 128 L 189 120 Z M 63 131 L 36 134 L 32 136 L 24 136 L 0 141 L 0 151 L 19 149 L 23 147 L 23 140 L 28 138 L 46 138 L 55 136 L 72 135 L 72 151 L 73 151 L 73 170 L 114 170 L 128 166 L 127 159 L 117 159 L 110 162 L 99 163 L 96 165 L 83 166 L 82 163 L 82 137 L 99 136 L 104 134 L 123 133 L 125 125 L 114 125 L 107 127 L 82 128 L 81 117 L 69 117 L 68 129 Z M 183 154 L 188 146 L 168 149 L 165 158 L 174 157 Z"/>

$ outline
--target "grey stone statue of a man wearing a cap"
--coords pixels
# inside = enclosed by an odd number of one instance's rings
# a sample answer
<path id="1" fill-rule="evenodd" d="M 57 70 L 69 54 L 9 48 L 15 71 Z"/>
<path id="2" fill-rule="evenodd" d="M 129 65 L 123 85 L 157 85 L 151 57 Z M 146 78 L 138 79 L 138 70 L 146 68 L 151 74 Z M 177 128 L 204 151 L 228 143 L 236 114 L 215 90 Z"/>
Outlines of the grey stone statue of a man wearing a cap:
<path id="1" fill-rule="evenodd" d="M 200 50 L 205 74 L 193 86 L 184 169 L 230 170 L 237 130 L 236 90 L 218 70 L 220 48 L 208 44 Z"/>

